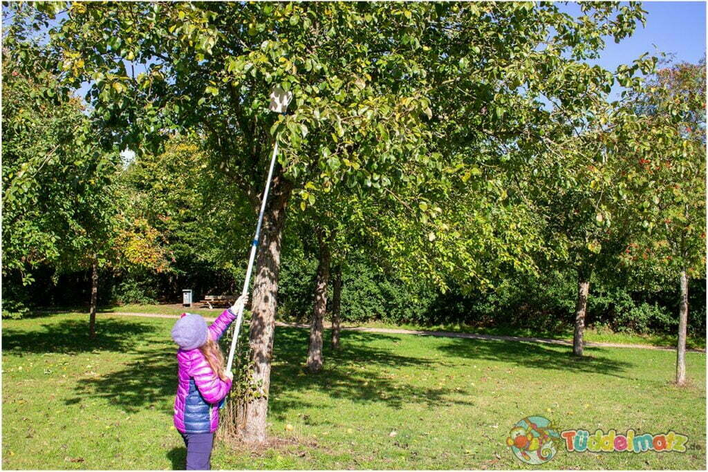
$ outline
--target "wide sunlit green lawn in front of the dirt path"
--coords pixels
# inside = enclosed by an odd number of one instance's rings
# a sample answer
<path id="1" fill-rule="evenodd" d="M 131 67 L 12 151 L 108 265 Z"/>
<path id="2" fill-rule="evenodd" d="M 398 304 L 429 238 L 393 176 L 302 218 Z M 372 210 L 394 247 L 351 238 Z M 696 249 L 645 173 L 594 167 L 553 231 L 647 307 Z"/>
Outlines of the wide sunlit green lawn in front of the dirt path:
<path id="1" fill-rule="evenodd" d="M 4 320 L 3 467 L 183 468 L 172 323 L 101 314 L 89 340 L 85 314 Z M 312 376 L 307 337 L 276 328 L 269 428 L 295 443 L 219 444 L 212 468 L 532 468 L 506 447 L 527 415 L 689 437 L 683 454 L 559 451 L 542 468 L 706 466 L 703 353 L 687 354 L 691 383 L 677 388 L 670 351 L 589 347 L 577 360 L 556 345 L 344 332 Z"/>

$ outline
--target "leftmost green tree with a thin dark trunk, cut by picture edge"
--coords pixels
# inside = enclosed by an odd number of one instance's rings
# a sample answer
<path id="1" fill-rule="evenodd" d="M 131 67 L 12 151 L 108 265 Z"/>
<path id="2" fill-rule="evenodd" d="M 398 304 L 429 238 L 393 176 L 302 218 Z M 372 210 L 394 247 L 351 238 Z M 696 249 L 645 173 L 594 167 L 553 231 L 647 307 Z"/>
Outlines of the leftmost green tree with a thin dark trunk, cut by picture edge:
<path id="1" fill-rule="evenodd" d="M 32 282 L 40 265 L 51 263 L 59 272 L 91 267 L 93 336 L 98 266 L 110 250 L 117 212 L 111 183 L 118 156 L 96 146 L 84 105 L 52 74 L 56 57 L 25 34 L 25 19 L 18 11 L 4 31 L 3 276 L 11 280 L 6 293 L 16 291 L 14 283 Z"/>

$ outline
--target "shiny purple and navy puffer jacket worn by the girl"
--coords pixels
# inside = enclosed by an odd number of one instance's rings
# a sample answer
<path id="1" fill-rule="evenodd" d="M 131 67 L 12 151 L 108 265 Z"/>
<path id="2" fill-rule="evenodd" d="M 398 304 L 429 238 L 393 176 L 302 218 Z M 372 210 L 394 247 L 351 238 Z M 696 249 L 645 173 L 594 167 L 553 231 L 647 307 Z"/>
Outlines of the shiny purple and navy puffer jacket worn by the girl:
<path id="1" fill-rule="evenodd" d="M 209 326 L 209 336 L 219 340 L 234 321 L 229 310 L 219 315 Z M 202 352 L 197 349 L 177 351 L 178 385 L 175 398 L 174 423 L 179 432 L 215 432 L 219 426 L 217 403 L 231 388 L 231 381 L 219 379 Z"/>

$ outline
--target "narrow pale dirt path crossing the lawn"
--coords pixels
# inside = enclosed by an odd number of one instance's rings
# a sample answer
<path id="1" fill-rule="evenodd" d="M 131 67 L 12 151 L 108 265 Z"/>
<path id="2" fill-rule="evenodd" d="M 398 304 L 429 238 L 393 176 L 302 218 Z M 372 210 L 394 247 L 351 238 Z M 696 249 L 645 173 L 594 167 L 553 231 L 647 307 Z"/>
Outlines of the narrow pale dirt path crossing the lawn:
<path id="1" fill-rule="evenodd" d="M 164 315 L 160 313 L 129 313 L 125 311 L 112 311 L 107 313 L 99 313 L 101 315 L 120 315 L 120 316 L 142 316 L 144 318 L 177 318 L 178 315 Z M 214 321 L 215 318 L 204 317 L 206 321 Z M 289 328 L 309 328 L 309 325 L 296 324 L 296 323 L 282 323 L 280 321 L 275 322 L 275 326 L 286 326 Z M 331 328 L 331 324 L 325 323 L 325 328 Z M 496 336 L 496 335 L 486 335 L 486 334 L 474 334 L 474 333 L 455 333 L 454 331 L 425 331 L 425 330 L 406 330 L 399 328 L 366 328 L 363 326 L 353 326 L 353 327 L 343 327 L 343 331 L 362 331 L 364 333 L 385 333 L 385 334 L 412 334 L 419 336 L 436 336 L 438 338 L 465 338 L 465 339 L 481 339 L 490 341 L 522 341 L 525 343 L 544 343 L 544 344 L 559 344 L 572 346 L 571 341 L 565 341 L 560 339 L 547 339 L 547 338 L 524 338 L 521 336 Z M 653 346 L 649 344 L 620 344 L 620 343 L 585 343 L 586 347 L 622 347 L 622 348 L 634 348 L 634 349 L 653 349 L 653 350 L 665 350 L 673 351 L 673 347 L 667 346 Z M 687 349 L 691 352 L 706 352 L 704 349 Z"/>

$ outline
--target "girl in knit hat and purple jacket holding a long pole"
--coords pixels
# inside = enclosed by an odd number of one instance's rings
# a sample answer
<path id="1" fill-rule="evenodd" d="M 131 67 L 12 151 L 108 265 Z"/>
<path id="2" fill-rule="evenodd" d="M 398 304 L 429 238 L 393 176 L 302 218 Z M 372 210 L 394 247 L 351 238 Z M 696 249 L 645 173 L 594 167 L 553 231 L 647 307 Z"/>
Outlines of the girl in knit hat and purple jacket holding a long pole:
<path id="1" fill-rule="evenodd" d="M 241 295 L 208 328 L 204 318 L 190 313 L 182 313 L 172 328 L 172 339 L 179 346 L 174 424 L 187 447 L 187 470 L 211 468 L 214 432 L 219 426 L 217 404 L 233 381 L 232 372 L 224 370 L 218 341 L 246 300 L 248 295 Z"/>

